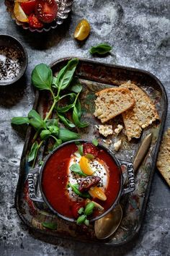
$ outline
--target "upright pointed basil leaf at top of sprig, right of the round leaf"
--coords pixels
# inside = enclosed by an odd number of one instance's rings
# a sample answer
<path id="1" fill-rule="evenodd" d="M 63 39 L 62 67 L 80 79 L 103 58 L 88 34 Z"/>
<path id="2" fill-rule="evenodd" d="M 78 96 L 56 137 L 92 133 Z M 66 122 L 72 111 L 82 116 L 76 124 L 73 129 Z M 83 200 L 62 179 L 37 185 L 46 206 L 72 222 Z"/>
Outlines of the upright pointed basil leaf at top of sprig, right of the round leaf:
<path id="1" fill-rule="evenodd" d="M 71 59 L 68 61 L 68 64 L 58 73 L 58 90 L 64 90 L 68 87 L 68 85 L 70 85 L 73 78 L 73 73 L 75 72 L 78 63 L 79 59 Z"/>

